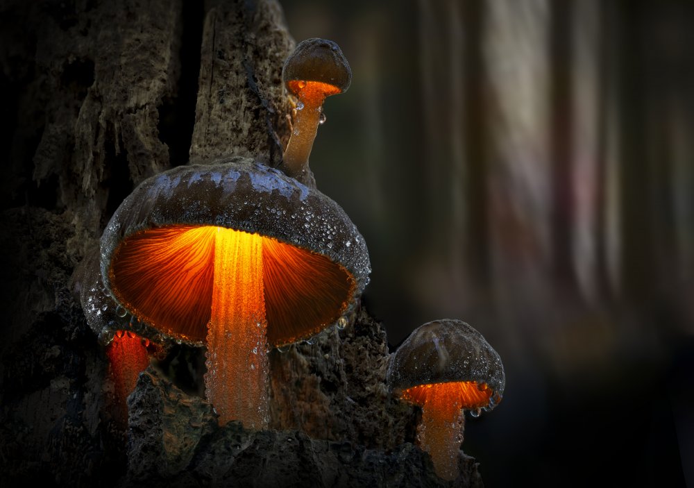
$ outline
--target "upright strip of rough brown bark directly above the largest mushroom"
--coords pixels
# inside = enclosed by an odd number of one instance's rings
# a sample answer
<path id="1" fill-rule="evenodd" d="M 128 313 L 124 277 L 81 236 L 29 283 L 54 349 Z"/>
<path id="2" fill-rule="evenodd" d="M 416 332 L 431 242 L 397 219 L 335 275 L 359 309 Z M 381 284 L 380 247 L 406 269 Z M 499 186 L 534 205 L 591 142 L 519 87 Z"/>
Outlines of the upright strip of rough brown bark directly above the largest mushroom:
<path id="1" fill-rule="evenodd" d="M 282 159 L 291 110 L 282 65 L 294 48 L 276 1 L 214 2 L 205 18 L 190 162 Z"/>

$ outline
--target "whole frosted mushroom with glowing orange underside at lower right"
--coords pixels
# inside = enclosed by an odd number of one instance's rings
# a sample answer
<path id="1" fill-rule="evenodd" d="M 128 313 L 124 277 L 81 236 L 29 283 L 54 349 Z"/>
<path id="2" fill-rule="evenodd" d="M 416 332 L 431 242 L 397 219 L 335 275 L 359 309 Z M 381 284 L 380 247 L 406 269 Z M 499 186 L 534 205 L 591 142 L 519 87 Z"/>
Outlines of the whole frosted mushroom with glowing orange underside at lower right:
<path id="1" fill-rule="evenodd" d="M 478 417 L 501 401 L 506 377 L 498 353 L 463 321 L 431 321 L 390 356 L 387 382 L 400 398 L 422 408 L 418 444 L 440 478 L 455 480 L 464 411 Z"/>

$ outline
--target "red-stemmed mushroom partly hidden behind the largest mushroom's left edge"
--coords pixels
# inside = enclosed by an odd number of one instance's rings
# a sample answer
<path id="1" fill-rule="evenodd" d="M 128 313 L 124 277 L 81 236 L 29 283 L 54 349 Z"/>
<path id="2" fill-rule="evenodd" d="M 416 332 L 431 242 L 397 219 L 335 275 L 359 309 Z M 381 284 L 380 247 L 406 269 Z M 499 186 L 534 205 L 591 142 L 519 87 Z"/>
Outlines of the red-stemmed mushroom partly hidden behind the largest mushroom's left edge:
<path id="1" fill-rule="evenodd" d="M 101 280 L 99 249 L 88 253 L 75 270 L 74 285 L 87 318 L 108 358 L 108 377 L 114 387 L 116 420 L 125 426 L 128 421 L 128 395 L 135 389 L 137 378 L 149 366 L 151 355 L 161 351 L 149 339 L 140 337 L 130 323 L 124 308 L 105 292 Z"/>

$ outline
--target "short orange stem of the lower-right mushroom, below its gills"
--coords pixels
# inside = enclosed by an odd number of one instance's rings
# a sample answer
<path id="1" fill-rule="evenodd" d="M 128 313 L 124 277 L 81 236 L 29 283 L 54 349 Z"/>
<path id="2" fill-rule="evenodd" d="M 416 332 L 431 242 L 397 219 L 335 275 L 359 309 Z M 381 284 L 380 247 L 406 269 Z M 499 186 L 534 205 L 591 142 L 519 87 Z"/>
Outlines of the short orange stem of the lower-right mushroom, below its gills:
<path id="1" fill-rule="evenodd" d="M 439 478 L 452 481 L 458 477 L 458 451 L 463 441 L 464 426 L 464 410 L 458 399 L 443 395 L 428 396 L 422 406 L 417 439 L 423 450 L 432 457 L 434 471 Z"/>

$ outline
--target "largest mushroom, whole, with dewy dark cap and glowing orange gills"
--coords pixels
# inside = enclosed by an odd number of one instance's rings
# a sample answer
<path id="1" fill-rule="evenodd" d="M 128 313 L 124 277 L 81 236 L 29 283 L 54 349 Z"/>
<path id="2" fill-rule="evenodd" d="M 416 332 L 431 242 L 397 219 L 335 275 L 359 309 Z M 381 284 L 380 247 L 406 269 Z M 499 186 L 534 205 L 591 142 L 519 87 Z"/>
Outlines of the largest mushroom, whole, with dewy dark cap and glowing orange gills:
<path id="1" fill-rule="evenodd" d="M 268 423 L 271 346 L 350 313 L 369 281 L 337 203 L 247 158 L 144 180 L 101 237 L 101 278 L 145 337 L 207 347 L 205 396 L 223 425 Z"/>

